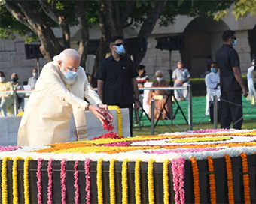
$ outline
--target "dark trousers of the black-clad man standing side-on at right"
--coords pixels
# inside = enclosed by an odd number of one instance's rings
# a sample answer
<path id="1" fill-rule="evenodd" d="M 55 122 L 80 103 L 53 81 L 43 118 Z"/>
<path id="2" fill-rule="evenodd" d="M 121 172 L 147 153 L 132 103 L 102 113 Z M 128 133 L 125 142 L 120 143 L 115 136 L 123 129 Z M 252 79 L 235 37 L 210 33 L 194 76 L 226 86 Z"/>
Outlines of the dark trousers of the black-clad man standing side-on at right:
<path id="1" fill-rule="evenodd" d="M 221 128 L 230 127 L 230 124 L 232 122 L 234 129 L 241 130 L 242 92 L 240 90 L 221 92 L 221 99 L 224 99 L 224 101 L 221 101 Z M 227 101 L 229 101 L 230 103 L 228 103 Z"/>

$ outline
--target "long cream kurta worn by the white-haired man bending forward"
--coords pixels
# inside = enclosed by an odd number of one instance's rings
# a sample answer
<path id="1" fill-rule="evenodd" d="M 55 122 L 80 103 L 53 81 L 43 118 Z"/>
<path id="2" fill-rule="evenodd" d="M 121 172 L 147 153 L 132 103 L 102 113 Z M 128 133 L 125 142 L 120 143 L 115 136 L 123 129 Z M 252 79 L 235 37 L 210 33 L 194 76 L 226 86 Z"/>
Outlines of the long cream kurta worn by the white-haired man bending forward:
<path id="1" fill-rule="evenodd" d="M 84 112 L 87 102 L 102 104 L 99 96 L 88 83 L 83 68 L 78 68 L 78 77 L 72 85 L 73 93 L 62 80 L 57 62 L 44 65 L 35 90 L 26 104 L 20 122 L 17 145 L 45 145 L 69 141 L 69 121 L 72 110 Z M 78 87 L 79 86 L 79 87 Z M 75 88 L 75 89 L 74 89 Z M 78 97 L 78 94 L 84 97 Z M 84 119 L 84 118 L 83 118 Z"/>

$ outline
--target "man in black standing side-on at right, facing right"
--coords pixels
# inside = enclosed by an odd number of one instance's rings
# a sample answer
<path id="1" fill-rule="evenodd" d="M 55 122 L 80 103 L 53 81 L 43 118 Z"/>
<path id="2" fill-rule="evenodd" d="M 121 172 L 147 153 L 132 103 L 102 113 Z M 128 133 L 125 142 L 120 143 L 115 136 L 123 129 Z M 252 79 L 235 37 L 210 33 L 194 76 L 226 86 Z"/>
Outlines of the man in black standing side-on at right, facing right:
<path id="1" fill-rule="evenodd" d="M 221 76 L 221 128 L 242 128 L 242 94 L 247 97 L 248 92 L 242 80 L 239 68 L 239 56 L 233 46 L 236 44 L 236 32 L 224 31 L 223 45 L 216 52 L 216 61 Z"/>

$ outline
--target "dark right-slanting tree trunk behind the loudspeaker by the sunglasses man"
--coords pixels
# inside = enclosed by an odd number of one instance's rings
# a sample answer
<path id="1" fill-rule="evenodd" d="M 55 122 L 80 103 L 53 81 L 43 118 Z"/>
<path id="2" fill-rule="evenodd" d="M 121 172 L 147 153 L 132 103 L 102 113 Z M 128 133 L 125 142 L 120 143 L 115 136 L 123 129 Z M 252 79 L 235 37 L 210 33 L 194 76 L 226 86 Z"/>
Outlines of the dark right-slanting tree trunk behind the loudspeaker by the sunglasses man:
<path id="1" fill-rule="evenodd" d="M 161 13 L 163 12 L 163 8 L 166 5 L 165 1 L 157 1 L 155 7 L 151 10 L 150 15 L 144 20 L 142 23 L 142 27 L 139 30 L 138 37 L 145 37 L 148 40 L 151 32 L 154 29 L 154 26 L 157 23 Z M 148 43 L 147 43 L 148 45 Z M 142 62 L 142 59 L 145 57 L 146 52 L 141 52 L 137 55 L 133 55 L 133 62 L 136 67 Z"/>

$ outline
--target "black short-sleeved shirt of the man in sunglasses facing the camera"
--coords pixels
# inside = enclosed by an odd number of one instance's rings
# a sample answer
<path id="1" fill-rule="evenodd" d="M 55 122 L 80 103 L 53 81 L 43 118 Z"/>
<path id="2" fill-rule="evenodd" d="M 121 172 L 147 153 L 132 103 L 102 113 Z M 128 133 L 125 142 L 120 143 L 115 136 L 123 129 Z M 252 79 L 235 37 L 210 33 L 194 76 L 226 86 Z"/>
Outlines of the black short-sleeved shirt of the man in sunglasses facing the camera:
<path id="1" fill-rule="evenodd" d="M 97 71 L 97 79 L 104 81 L 103 103 L 108 105 L 133 104 L 131 80 L 137 76 L 136 68 L 127 56 L 121 56 L 119 62 L 115 61 L 113 56 L 105 58 Z"/>

